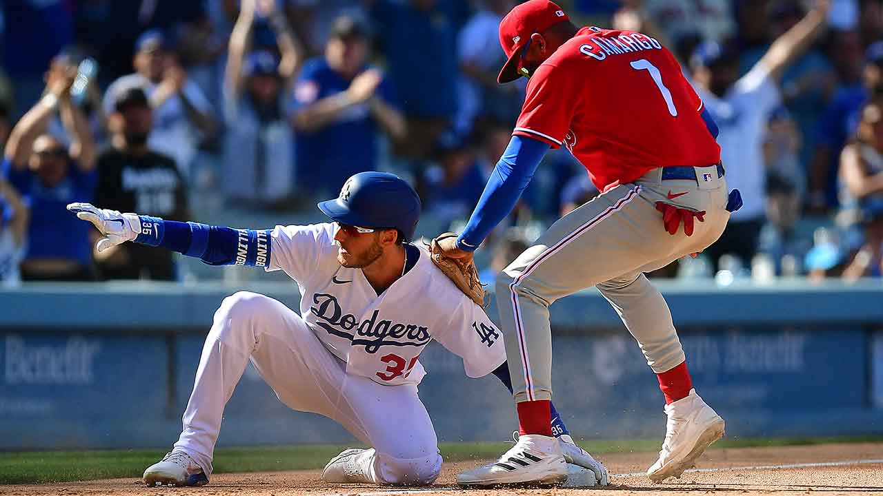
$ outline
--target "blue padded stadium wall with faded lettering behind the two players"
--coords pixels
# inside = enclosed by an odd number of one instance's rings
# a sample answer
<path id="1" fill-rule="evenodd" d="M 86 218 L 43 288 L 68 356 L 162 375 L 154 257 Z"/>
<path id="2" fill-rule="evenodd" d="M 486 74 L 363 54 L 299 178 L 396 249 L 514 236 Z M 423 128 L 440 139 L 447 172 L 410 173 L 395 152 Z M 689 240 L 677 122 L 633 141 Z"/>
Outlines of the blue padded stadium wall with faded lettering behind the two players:
<path id="1" fill-rule="evenodd" d="M 883 285 L 658 284 L 694 385 L 731 438 L 883 433 Z M 0 449 L 169 447 L 177 440 L 221 284 L 29 284 L 0 290 Z M 293 284 L 249 284 L 297 310 Z M 494 304 L 488 308 L 496 319 Z M 554 401 L 577 438 L 659 438 L 653 372 L 595 290 L 556 302 Z M 439 439 L 507 440 L 493 377 L 470 380 L 437 344 L 420 385 Z M 389 408 L 395 408 L 390 405 Z M 219 446 L 347 443 L 336 423 L 288 410 L 250 365 Z"/>

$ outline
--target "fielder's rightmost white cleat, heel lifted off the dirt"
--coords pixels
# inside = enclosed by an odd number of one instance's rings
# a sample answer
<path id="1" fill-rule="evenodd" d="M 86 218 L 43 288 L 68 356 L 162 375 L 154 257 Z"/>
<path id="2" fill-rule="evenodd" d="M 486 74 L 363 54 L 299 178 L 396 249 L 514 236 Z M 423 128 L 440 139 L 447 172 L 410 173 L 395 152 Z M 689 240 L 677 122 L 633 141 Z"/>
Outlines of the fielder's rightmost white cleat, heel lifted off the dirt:
<path id="1" fill-rule="evenodd" d="M 666 405 L 665 412 L 668 423 L 660 458 L 647 469 L 647 477 L 657 483 L 668 477 L 681 477 L 706 447 L 720 440 L 724 433 L 723 418 L 702 401 L 696 389 L 691 389 L 686 398 Z"/>

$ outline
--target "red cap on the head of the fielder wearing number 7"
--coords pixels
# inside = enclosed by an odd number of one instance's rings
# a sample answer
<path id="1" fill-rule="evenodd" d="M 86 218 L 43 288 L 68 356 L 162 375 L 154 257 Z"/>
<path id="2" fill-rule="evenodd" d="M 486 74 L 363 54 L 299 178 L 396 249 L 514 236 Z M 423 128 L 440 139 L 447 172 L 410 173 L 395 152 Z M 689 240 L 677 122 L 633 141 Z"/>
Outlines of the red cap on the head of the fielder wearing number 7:
<path id="1" fill-rule="evenodd" d="M 521 49 L 525 48 L 531 34 L 542 33 L 565 20 L 570 18 L 561 7 L 549 0 L 528 0 L 509 11 L 500 21 L 500 45 L 508 60 L 503 64 L 497 82 L 508 83 L 522 76 L 519 71 Z"/>

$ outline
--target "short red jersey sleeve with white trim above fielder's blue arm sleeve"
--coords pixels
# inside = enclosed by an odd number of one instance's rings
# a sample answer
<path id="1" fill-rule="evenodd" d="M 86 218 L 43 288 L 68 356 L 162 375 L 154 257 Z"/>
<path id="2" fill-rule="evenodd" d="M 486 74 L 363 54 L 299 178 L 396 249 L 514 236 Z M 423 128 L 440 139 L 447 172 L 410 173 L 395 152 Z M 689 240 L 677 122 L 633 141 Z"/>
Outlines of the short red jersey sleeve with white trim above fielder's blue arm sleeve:
<path id="1" fill-rule="evenodd" d="M 561 67 L 540 65 L 527 83 L 525 104 L 512 134 L 561 147 L 581 98 L 577 81 L 576 74 Z"/>

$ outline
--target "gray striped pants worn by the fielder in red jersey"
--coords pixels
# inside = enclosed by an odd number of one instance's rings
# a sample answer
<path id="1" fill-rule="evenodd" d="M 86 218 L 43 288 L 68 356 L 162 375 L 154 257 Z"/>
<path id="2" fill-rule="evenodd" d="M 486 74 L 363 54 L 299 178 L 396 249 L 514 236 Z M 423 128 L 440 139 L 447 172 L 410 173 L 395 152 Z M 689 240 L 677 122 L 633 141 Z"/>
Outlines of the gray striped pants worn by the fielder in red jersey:
<path id="1" fill-rule="evenodd" d="M 595 285 L 654 372 L 683 362 L 668 305 L 643 273 L 704 250 L 721 236 L 729 218 L 727 186 L 716 170 L 706 182 L 660 181 L 656 169 L 616 186 L 559 219 L 503 270 L 496 282 L 497 307 L 517 402 L 552 397 L 549 305 Z M 688 194 L 668 199 L 672 191 Z M 705 210 L 705 222 L 696 222 L 691 237 L 683 230 L 669 235 L 657 201 Z"/>

